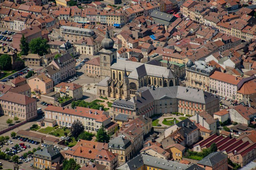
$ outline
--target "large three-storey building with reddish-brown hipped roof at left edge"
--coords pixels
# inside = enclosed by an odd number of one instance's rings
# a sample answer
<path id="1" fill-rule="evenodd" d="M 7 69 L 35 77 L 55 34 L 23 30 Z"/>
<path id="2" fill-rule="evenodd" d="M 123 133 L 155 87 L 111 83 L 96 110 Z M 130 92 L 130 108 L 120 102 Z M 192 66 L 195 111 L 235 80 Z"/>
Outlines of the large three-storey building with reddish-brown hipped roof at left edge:
<path id="1" fill-rule="evenodd" d="M 32 120 L 37 117 L 36 99 L 23 94 L 8 92 L 0 97 L 0 113 L 22 120 Z"/>

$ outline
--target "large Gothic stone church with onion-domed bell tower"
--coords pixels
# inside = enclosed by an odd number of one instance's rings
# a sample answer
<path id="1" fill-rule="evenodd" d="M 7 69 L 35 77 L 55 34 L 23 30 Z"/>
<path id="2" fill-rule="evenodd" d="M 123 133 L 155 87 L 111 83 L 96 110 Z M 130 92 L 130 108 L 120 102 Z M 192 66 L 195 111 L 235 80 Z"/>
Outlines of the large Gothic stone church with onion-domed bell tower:
<path id="1" fill-rule="evenodd" d="M 114 41 L 108 31 L 101 42 L 100 52 L 101 81 L 97 94 L 103 97 L 130 99 L 141 87 L 170 87 L 178 85 L 177 75 L 167 67 L 127 61 L 116 57 Z"/>

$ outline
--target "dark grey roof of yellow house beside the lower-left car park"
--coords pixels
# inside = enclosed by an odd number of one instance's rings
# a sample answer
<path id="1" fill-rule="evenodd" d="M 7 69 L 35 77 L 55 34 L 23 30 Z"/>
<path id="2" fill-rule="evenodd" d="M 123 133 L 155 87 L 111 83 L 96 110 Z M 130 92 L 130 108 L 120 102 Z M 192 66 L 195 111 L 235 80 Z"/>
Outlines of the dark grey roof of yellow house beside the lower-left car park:
<path id="1" fill-rule="evenodd" d="M 42 148 L 34 153 L 35 155 L 43 155 L 49 157 L 50 160 L 55 159 L 56 157 L 60 156 L 60 151 L 57 148 L 54 148 L 52 145 Z"/>

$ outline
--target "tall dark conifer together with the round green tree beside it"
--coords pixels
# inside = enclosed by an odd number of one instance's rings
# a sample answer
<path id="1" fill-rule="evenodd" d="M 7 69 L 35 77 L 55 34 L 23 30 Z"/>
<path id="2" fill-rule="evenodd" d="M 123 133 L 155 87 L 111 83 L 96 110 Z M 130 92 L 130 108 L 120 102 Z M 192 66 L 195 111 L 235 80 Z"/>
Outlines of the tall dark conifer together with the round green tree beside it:
<path id="1" fill-rule="evenodd" d="M 24 35 L 22 35 L 20 40 L 20 49 L 21 55 L 28 55 L 29 51 L 32 54 L 38 54 L 40 56 L 44 54 L 48 54 L 49 44 L 46 39 L 42 39 L 40 37 L 32 39 L 29 43 L 27 42 Z"/>

